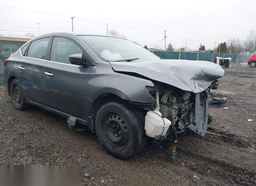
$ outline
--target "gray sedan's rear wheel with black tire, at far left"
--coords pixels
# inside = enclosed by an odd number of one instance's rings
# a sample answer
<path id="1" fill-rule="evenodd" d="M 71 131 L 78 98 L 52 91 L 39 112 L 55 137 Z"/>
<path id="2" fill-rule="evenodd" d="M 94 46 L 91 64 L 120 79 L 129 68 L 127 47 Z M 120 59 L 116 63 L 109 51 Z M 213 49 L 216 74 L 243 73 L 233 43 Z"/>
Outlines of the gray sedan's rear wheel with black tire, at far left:
<path id="1" fill-rule="evenodd" d="M 24 111 L 29 108 L 28 103 L 24 99 L 22 87 L 18 79 L 14 79 L 10 86 L 10 96 L 12 99 L 12 105 L 20 111 Z"/>

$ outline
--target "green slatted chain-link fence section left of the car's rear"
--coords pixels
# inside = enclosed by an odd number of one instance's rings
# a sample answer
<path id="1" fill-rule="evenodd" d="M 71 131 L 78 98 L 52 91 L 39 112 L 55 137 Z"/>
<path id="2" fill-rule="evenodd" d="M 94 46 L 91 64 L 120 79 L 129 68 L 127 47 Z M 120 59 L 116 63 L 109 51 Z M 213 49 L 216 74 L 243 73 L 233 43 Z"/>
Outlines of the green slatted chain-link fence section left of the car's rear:
<path id="1" fill-rule="evenodd" d="M 0 86 L 4 85 L 4 59 L 10 57 L 26 42 L 0 40 Z"/>

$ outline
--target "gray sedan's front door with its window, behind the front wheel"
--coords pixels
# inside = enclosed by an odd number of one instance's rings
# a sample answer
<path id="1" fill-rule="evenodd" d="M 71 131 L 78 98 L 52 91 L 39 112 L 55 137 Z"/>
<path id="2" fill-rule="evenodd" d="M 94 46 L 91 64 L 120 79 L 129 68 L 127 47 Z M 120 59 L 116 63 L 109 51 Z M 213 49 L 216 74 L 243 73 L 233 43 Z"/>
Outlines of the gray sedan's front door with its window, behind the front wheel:
<path id="1" fill-rule="evenodd" d="M 44 101 L 47 107 L 86 121 L 85 113 L 89 72 L 69 62 L 69 55 L 83 53 L 84 49 L 73 39 L 54 36 L 50 61 L 45 63 Z"/>

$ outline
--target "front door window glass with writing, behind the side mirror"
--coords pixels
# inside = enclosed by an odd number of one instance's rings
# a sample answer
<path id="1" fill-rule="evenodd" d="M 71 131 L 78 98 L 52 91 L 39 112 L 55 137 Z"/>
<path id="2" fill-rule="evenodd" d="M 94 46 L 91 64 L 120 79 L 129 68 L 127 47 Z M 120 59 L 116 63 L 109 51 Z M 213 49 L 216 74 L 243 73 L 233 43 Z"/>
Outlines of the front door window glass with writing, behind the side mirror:
<path id="1" fill-rule="evenodd" d="M 53 38 L 50 61 L 71 64 L 69 56 L 76 53 L 83 53 L 83 51 L 71 40 L 60 37 Z"/>

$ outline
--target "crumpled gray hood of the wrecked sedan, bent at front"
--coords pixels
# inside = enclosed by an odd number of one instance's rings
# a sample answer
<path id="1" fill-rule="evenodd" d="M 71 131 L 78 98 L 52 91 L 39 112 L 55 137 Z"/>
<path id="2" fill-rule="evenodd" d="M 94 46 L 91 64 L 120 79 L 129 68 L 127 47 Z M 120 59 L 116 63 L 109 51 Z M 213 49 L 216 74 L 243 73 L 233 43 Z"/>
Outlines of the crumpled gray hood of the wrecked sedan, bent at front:
<path id="1" fill-rule="evenodd" d="M 213 81 L 224 75 L 220 65 L 209 61 L 161 59 L 109 63 L 116 72 L 137 73 L 194 93 L 204 91 Z"/>

